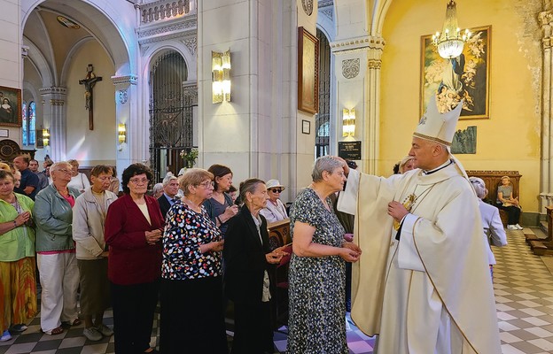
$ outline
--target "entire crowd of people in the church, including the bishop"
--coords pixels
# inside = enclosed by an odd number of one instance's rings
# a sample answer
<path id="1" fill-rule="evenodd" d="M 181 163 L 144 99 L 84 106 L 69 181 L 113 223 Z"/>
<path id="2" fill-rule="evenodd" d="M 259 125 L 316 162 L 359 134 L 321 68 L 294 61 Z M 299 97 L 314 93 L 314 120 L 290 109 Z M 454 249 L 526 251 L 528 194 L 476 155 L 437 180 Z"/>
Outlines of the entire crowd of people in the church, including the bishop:
<path id="1" fill-rule="evenodd" d="M 269 275 L 288 249 L 272 249 L 268 225 L 289 218 L 287 352 L 347 353 L 351 306 L 381 353 L 500 353 L 489 244 L 506 235 L 497 208 L 481 201 L 484 181 L 469 180 L 449 151 L 460 108 L 429 107 L 397 174 L 317 158 L 290 211 L 280 181 L 251 178 L 237 190 L 220 164 L 167 173 L 157 191 L 148 166 L 129 165 L 120 196 L 113 166 L 94 166 L 89 181 L 76 160 L 48 161 L 40 178 L 25 156 L 0 165 L 1 340 L 38 311 L 37 265 L 47 335 L 83 320 L 90 341 L 114 333 L 117 353 L 156 353 L 160 301 L 160 352 L 228 353 L 230 300 L 230 352 L 272 353 Z M 497 203 L 518 228 L 508 179 Z M 109 307 L 113 328 L 103 321 Z"/>

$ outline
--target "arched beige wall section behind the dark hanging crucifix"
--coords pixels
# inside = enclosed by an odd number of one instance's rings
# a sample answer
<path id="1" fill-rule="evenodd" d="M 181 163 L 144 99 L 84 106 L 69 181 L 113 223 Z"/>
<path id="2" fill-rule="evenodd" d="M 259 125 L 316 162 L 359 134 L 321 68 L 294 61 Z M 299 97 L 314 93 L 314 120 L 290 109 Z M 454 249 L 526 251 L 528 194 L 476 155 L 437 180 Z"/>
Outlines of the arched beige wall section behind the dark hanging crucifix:
<path id="1" fill-rule="evenodd" d="M 84 79 L 87 65 L 102 77 L 94 87 L 94 130 L 89 130 L 89 112 L 85 109 Z M 75 158 L 81 165 L 113 165 L 117 151 L 115 121 L 114 69 L 105 50 L 96 41 L 89 41 L 74 54 L 67 74 L 67 146 L 66 158 Z M 71 132 L 71 133 L 69 133 Z"/>

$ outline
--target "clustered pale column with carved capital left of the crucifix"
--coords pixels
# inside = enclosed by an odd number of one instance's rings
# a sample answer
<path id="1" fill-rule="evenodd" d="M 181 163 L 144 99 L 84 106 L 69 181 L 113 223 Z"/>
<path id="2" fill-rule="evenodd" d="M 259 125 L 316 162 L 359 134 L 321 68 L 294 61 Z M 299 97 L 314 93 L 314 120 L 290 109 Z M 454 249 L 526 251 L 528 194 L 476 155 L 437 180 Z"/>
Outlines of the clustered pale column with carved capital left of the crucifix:
<path id="1" fill-rule="evenodd" d="M 54 162 L 66 160 L 66 88 L 39 89 L 43 96 L 43 126 L 50 129 L 48 154 Z"/>

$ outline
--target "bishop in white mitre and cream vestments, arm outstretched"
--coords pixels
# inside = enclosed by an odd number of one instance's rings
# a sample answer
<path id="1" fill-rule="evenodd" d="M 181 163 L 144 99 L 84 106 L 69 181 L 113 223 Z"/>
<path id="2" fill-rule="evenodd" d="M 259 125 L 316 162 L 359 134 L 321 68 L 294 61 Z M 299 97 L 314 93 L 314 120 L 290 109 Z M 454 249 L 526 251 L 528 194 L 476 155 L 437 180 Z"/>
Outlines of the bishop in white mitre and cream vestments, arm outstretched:
<path id="1" fill-rule="evenodd" d="M 338 208 L 355 215 L 352 319 L 379 354 L 500 354 L 478 198 L 449 152 L 462 103 L 435 97 L 413 134 L 417 169 L 390 178 L 349 170 Z"/>

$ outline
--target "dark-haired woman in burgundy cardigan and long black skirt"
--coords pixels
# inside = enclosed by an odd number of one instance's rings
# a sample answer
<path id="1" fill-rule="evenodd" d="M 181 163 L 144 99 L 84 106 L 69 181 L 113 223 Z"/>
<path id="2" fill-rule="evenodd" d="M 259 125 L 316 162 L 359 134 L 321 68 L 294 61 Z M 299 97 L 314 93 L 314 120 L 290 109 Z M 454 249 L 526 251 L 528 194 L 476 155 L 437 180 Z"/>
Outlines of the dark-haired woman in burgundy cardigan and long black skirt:
<path id="1" fill-rule="evenodd" d="M 129 165 L 122 175 L 124 195 L 105 217 L 116 353 L 157 352 L 150 347 L 150 337 L 158 302 L 163 216 L 158 201 L 146 196 L 152 178 L 147 166 Z"/>

